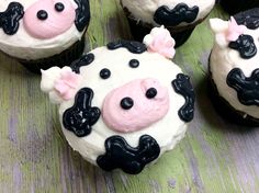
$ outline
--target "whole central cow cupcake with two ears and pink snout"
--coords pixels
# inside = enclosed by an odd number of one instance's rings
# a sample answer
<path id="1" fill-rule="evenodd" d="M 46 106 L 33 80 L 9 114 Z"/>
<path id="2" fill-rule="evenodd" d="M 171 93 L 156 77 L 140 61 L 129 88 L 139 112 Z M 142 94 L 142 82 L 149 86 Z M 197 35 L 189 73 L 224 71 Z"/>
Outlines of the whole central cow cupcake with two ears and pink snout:
<path id="1" fill-rule="evenodd" d="M 63 133 L 89 162 L 137 174 L 171 150 L 193 118 L 190 78 L 169 58 L 174 41 L 154 29 L 144 43 L 116 41 L 42 71 L 41 89 L 59 104 Z"/>

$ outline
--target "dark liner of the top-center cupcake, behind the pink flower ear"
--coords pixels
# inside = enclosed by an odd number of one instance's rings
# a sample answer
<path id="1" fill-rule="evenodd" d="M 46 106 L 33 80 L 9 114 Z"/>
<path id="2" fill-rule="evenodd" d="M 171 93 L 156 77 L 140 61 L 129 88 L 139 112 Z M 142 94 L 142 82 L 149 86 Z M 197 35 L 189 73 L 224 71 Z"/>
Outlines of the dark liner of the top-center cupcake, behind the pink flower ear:
<path id="1" fill-rule="evenodd" d="M 127 18 L 127 21 L 131 27 L 131 33 L 133 38 L 138 42 L 143 42 L 145 35 L 149 34 L 151 29 L 154 27 L 153 25 L 143 23 L 130 16 Z M 195 29 L 195 25 L 191 25 L 189 27 L 182 27 L 181 31 L 176 31 L 172 27 L 167 27 L 167 26 L 165 27 L 170 32 L 172 38 L 176 41 L 174 47 L 179 47 L 188 41 L 193 30 Z"/>

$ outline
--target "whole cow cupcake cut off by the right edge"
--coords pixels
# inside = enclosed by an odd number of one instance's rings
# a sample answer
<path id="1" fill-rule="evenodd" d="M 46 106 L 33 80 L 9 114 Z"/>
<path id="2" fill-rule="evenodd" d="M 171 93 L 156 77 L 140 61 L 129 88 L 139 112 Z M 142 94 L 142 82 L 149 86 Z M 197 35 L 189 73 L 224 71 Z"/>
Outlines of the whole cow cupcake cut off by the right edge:
<path id="1" fill-rule="evenodd" d="M 212 101 L 224 117 L 250 126 L 259 125 L 258 13 L 254 9 L 229 21 L 210 21 L 215 34 L 210 57 Z"/>

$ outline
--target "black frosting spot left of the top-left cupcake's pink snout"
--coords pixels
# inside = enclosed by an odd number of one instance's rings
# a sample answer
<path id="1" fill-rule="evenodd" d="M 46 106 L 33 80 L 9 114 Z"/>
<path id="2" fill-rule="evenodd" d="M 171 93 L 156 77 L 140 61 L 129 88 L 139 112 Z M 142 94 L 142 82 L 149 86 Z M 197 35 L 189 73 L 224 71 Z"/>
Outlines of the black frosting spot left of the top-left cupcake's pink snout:
<path id="1" fill-rule="evenodd" d="M 0 27 L 8 35 L 15 34 L 19 30 L 19 21 L 23 15 L 23 5 L 19 2 L 11 2 L 4 12 L 0 12 Z"/>

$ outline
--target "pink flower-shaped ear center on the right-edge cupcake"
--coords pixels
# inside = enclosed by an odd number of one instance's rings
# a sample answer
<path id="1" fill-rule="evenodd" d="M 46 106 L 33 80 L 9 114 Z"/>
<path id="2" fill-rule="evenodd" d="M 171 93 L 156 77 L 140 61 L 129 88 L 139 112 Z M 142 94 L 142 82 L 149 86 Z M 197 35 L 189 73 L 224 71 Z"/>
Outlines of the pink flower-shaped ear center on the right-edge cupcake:
<path id="1" fill-rule="evenodd" d="M 226 32 L 226 39 L 229 42 L 238 39 L 239 35 L 244 34 L 246 29 L 245 25 L 238 25 L 236 20 L 232 16 Z"/>

